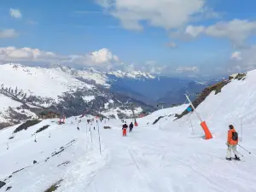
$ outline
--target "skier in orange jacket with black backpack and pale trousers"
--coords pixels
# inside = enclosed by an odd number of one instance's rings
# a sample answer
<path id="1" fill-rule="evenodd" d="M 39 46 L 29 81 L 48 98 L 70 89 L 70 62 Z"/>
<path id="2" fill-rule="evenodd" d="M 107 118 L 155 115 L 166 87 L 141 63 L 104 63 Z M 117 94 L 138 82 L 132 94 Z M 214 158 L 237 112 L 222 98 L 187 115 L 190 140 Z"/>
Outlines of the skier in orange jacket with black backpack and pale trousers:
<path id="1" fill-rule="evenodd" d="M 234 129 L 233 125 L 229 125 L 230 131 L 228 131 L 228 150 L 227 150 L 227 157 L 226 160 L 231 160 L 231 150 L 233 150 L 235 154 L 235 160 L 240 160 L 238 153 L 236 151 L 236 145 L 238 144 L 238 133 Z"/>

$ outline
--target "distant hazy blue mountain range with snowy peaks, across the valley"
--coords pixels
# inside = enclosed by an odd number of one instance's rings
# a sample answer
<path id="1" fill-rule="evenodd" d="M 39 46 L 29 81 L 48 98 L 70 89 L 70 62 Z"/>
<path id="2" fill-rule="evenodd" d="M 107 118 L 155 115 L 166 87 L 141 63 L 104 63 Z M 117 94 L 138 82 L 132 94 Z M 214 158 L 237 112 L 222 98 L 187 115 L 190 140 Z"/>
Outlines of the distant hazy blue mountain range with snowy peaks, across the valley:
<path id="1" fill-rule="evenodd" d="M 166 104 L 179 103 L 184 100 L 183 92 L 192 93 L 203 90 L 216 79 L 210 81 L 193 81 L 191 79 L 179 79 L 163 77 L 140 71 L 122 72 L 99 72 L 92 67 L 83 70 L 75 70 L 61 65 L 53 67 L 61 68 L 65 73 L 75 75 L 85 82 L 102 85 L 112 92 L 136 98 L 156 106 L 157 102 Z"/>

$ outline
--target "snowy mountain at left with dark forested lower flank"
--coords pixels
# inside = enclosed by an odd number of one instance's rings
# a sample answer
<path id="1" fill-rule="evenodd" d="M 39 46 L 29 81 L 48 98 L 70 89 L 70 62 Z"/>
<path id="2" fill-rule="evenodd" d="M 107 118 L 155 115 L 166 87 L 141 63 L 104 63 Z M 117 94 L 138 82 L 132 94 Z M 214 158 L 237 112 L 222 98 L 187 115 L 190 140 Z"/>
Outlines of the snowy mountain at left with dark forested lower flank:
<path id="1" fill-rule="evenodd" d="M 108 78 L 96 71 L 20 64 L 0 65 L 0 71 L 0 128 L 14 125 L 21 119 L 35 118 L 36 113 L 45 109 L 54 109 L 67 117 L 106 111 L 109 116 L 119 115 L 119 118 L 131 115 L 131 103 L 137 105 L 135 113 L 153 109 L 109 91 Z"/>

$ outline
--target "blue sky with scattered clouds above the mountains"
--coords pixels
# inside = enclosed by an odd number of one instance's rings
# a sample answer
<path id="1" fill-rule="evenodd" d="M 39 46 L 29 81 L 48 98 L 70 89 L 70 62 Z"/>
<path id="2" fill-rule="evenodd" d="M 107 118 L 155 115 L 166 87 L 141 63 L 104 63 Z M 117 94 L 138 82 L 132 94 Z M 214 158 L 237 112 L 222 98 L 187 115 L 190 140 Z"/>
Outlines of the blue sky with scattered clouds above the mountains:
<path id="1" fill-rule="evenodd" d="M 166 2 L 4 1 L 0 7 L 2 62 L 26 64 L 33 58 L 35 65 L 61 61 L 72 67 L 103 70 L 128 70 L 132 65 L 129 70 L 181 76 L 234 73 L 255 67 L 255 1 Z M 12 15 L 11 9 L 20 15 Z M 15 47 L 11 53 L 6 49 L 10 46 Z M 40 59 L 35 58 L 34 49 L 42 51 Z M 49 58 L 46 52 L 55 57 Z M 69 61 L 70 55 L 77 59 Z M 243 55 L 249 55 L 249 60 Z"/>

